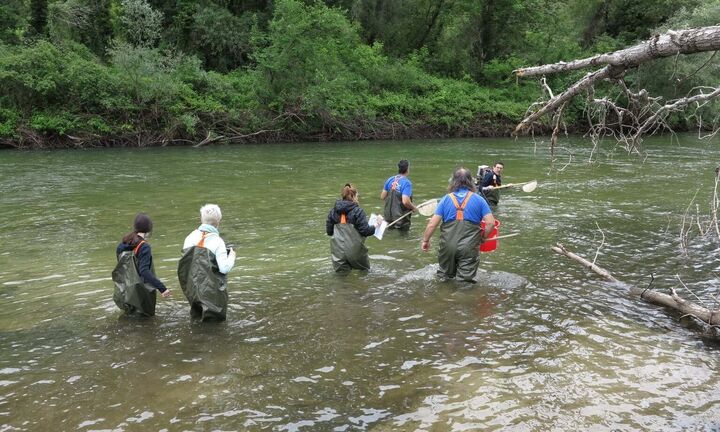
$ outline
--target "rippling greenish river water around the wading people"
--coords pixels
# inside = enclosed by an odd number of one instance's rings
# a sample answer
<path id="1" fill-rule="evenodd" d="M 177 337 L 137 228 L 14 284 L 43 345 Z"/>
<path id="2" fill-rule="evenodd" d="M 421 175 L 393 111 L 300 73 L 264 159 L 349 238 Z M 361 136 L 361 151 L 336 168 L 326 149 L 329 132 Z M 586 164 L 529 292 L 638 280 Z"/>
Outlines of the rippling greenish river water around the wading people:
<path id="1" fill-rule="evenodd" d="M 589 161 L 569 139 L 554 163 L 527 138 L 1 152 L 0 431 L 718 430 L 718 344 L 550 249 L 711 305 L 717 235 L 694 225 L 683 248 L 679 233 L 688 208 L 701 227 L 710 214 L 718 144 L 606 144 Z M 503 193 L 501 234 L 520 235 L 482 255 L 476 285 L 434 277 L 419 215 L 368 238 L 368 273 L 333 274 L 341 186 L 378 212 L 401 158 L 416 202 L 457 165 L 539 181 Z M 205 203 L 238 251 L 220 324 L 190 319 L 176 277 Z M 137 211 L 173 291 L 145 320 L 122 316 L 110 280 Z"/>

